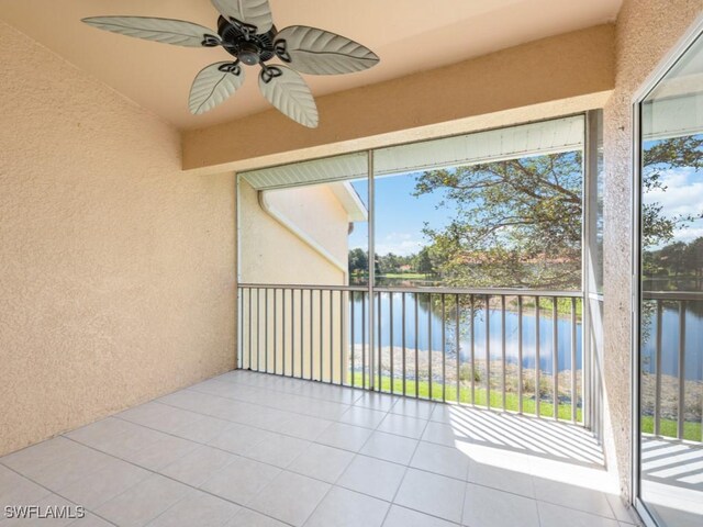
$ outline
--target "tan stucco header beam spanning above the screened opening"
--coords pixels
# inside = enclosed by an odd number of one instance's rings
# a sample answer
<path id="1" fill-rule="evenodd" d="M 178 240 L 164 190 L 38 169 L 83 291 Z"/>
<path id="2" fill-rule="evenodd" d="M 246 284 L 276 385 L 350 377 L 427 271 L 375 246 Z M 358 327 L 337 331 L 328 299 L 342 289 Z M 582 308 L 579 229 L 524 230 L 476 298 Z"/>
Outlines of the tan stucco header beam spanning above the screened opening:
<path id="1" fill-rule="evenodd" d="M 453 66 L 317 98 L 320 127 L 302 128 L 276 110 L 232 123 L 183 132 L 183 168 L 233 168 L 237 161 L 280 153 L 357 143 L 417 138 L 408 131 L 550 101 L 565 101 L 613 88 L 614 29 L 599 25 L 543 38 Z M 583 104 L 589 104 L 584 99 Z M 595 106 L 561 103 L 561 115 Z M 533 119 L 544 119 L 544 114 Z M 276 133 L 276 141 L 271 134 Z M 460 133 L 439 127 L 434 133 Z M 427 131 L 423 131 L 426 136 Z M 389 134 L 394 134 L 388 136 Z M 232 145 L 241 148 L 232 148 Z M 315 153 L 330 155 L 333 152 Z M 275 162 L 286 162 L 277 159 Z M 264 161 L 266 164 L 266 161 Z"/>

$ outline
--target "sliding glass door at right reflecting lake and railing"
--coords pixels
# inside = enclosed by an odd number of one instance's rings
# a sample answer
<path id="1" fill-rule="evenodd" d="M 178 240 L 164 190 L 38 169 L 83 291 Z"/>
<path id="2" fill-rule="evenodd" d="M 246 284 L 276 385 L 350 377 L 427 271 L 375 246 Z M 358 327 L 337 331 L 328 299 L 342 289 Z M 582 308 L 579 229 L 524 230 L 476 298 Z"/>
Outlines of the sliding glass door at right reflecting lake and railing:
<path id="1" fill-rule="evenodd" d="M 638 498 L 703 525 L 703 38 L 639 104 Z"/>

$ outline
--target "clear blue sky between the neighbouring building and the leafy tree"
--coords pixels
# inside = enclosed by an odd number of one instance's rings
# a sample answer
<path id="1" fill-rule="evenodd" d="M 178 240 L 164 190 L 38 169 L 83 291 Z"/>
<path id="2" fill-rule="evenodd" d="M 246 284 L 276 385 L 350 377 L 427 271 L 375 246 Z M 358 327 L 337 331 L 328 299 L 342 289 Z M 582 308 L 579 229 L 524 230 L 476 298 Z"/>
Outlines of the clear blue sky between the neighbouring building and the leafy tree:
<path id="1" fill-rule="evenodd" d="M 366 180 L 352 183 L 365 203 L 368 203 L 368 182 Z M 437 209 L 443 194 L 412 195 L 415 189 L 415 175 L 399 175 L 376 179 L 376 254 L 393 253 L 406 256 L 417 253 L 424 245 L 422 229 L 427 222 L 432 227 L 447 225 L 456 209 L 451 203 Z M 368 225 L 355 224 L 349 236 L 349 248 L 368 248 Z"/>

